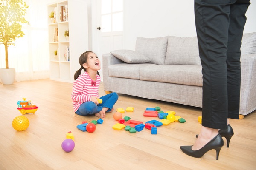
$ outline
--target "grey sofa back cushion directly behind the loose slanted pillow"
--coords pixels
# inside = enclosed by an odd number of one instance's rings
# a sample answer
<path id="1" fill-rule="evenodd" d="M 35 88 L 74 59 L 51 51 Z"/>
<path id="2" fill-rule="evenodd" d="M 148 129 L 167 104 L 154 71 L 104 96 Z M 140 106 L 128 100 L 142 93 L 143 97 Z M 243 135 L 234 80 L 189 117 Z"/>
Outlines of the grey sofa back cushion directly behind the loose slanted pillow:
<path id="1" fill-rule="evenodd" d="M 138 51 L 149 59 L 152 64 L 164 64 L 167 49 L 167 36 L 158 38 L 137 37 L 135 51 Z"/>

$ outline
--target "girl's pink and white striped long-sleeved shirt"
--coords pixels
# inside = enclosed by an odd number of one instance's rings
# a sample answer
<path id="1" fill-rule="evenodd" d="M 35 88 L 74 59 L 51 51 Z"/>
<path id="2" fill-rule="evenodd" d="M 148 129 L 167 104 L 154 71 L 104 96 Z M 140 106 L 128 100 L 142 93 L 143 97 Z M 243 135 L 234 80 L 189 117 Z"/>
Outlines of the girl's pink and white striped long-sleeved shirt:
<path id="1" fill-rule="evenodd" d="M 100 76 L 97 74 L 96 77 L 96 81 L 93 81 L 89 74 L 84 72 L 74 81 L 71 94 L 74 112 L 82 103 L 90 101 L 92 96 L 99 97 Z"/>

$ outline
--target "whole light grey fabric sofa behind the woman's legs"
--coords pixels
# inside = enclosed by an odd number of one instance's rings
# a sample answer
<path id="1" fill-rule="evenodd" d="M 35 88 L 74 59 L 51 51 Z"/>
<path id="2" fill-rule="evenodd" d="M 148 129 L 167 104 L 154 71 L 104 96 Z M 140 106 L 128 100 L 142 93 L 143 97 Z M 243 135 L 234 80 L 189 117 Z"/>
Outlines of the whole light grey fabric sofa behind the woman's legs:
<path id="1" fill-rule="evenodd" d="M 103 54 L 104 90 L 202 107 L 197 37 L 137 37 L 135 51 Z M 243 35 L 240 115 L 256 109 L 256 32 Z"/>

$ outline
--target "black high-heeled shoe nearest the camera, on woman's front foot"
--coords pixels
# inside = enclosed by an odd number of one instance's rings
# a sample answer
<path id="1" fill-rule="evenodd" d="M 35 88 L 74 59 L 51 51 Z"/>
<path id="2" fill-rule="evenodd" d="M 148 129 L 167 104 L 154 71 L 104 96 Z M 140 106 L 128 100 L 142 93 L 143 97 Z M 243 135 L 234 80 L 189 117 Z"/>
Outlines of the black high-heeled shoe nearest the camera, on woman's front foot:
<path id="1" fill-rule="evenodd" d="M 224 145 L 224 141 L 220 134 L 215 136 L 210 142 L 208 142 L 204 147 L 199 150 L 192 150 L 192 146 L 181 146 L 180 149 L 189 156 L 195 158 L 201 158 L 205 153 L 209 150 L 216 150 L 216 160 L 218 160 L 218 156 L 221 150 L 221 147 Z"/>

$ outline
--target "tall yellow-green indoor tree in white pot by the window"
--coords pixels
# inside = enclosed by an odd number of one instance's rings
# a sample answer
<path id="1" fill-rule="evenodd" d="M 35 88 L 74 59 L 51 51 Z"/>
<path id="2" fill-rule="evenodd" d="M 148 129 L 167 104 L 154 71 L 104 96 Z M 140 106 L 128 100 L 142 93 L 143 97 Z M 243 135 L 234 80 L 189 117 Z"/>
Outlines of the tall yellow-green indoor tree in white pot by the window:
<path id="1" fill-rule="evenodd" d="M 6 68 L 0 69 L 0 79 L 3 84 L 13 84 L 15 68 L 9 68 L 8 46 L 15 45 L 16 38 L 23 37 L 22 25 L 29 23 L 25 19 L 26 5 L 23 0 L 1 0 L 0 2 L 0 44 L 5 47 Z"/>

